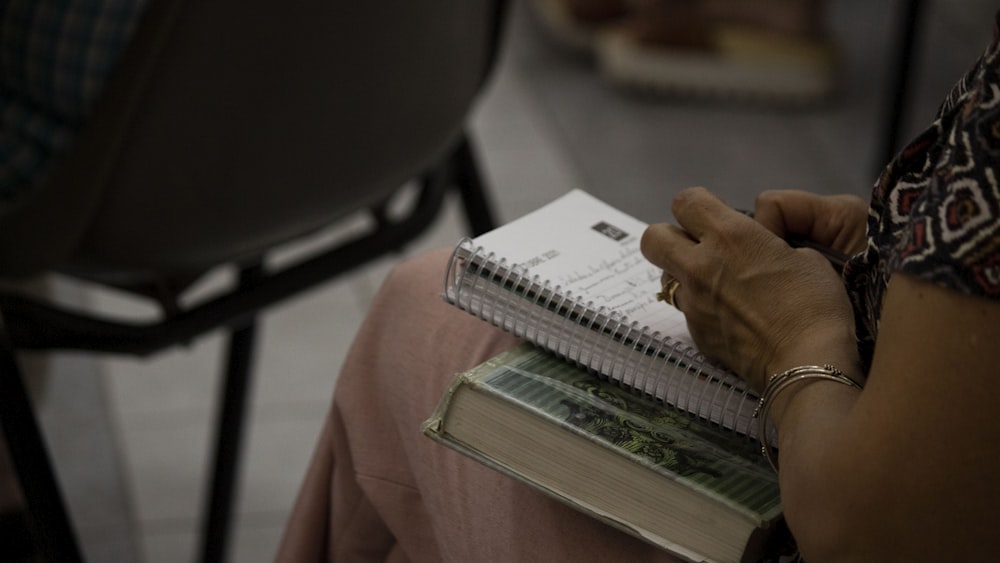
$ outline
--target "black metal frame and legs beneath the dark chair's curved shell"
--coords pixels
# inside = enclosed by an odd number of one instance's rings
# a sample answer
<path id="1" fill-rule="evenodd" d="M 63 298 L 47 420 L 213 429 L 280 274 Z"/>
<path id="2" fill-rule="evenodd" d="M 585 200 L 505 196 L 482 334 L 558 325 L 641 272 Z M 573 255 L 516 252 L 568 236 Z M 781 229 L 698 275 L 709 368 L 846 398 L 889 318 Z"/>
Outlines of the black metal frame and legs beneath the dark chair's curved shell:
<path id="1" fill-rule="evenodd" d="M 229 331 L 225 387 L 219 397 L 209 498 L 204 507 L 202 561 L 224 561 L 229 542 L 237 462 L 250 388 L 257 315 L 265 308 L 333 280 L 358 266 L 397 251 L 427 229 L 457 190 L 472 234 L 495 220 L 472 146 L 463 137 L 445 161 L 419 181 L 408 214 L 390 219 L 384 207 L 371 210 L 375 228 L 318 256 L 268 271 L 260 261 L 242 264 L 235 289 L 162 320 L 135 323 L 0 293 L 0 425 L 28 499 L 35 544 L 46 560 L 82 561 L 73 526 L 49 459 L 44 436 L 18 367 L 17 350 L 84 350 L 147 356 L 199 335 Z"/>

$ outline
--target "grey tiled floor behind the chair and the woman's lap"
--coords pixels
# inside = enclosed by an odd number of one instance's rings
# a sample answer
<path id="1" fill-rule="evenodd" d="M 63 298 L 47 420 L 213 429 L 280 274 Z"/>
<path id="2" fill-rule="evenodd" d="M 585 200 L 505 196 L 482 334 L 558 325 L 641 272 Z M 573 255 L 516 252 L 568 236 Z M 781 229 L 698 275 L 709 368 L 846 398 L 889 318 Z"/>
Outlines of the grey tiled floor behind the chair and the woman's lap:
<path id="1" fill-rule="evenodd" d="M 929 4 L 908 132 L 910 123 L 926 122 L 991 31 L 992 8 L 984 0 Z M 877 168 L 900 7 L 899 1 L 831 2 L 831 24 L 844 48 L 842 95 L 829 107 L 789 112 L 626 94 L 587 61 L 554 49 L 515 3 L 502 64 L 473 120 L 499 214 L 513 218 L 572 187 L 647 221 L 667 218 L 672 195 L 693 184 L 740 206 L 771 187 L 865 193 Z M 457 212 L 449 209 L 411 252 L 451 244 L 461 234 Z M 266 315 L 234 561 L 273 557 L 340 359 L 389 262 Z M 77 288 L 65 291 L 81 298 Z M 86 289 L 82 298 L 141 311 L 105 292 Z M 141 361 L 57 358 L 45 422 L 92 560 L 193 558 L 220 342 L 210 337 Z M 81 441 L 83 433 L 91 438 Z"/>

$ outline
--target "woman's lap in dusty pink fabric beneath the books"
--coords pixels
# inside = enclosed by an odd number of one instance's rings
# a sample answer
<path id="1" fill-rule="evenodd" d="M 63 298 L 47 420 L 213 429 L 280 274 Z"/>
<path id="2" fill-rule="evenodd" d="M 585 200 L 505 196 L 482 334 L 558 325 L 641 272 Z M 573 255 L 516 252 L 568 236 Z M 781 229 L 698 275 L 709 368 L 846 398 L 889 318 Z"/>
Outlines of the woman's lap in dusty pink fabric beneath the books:
<path id="1" fill-rule="evenodd" d="M 436 252 L 394 269 L 358 333 L 317 453 L 334 477 L 314 478 L 325 481 L 314 488 L 332 491 L 304 487 L 303 497 L 332 504 L 328 529 L 313 535 L 343 560 L 353 558 L 341 551 L 351 546 L 382 560 L 672 561 L 421 434 L 454 374 L 517 343 L 443 302 L 446 261 Z M 369 527 L 362 535 L 384 545 L 356 545 L 355 517 Z"/>

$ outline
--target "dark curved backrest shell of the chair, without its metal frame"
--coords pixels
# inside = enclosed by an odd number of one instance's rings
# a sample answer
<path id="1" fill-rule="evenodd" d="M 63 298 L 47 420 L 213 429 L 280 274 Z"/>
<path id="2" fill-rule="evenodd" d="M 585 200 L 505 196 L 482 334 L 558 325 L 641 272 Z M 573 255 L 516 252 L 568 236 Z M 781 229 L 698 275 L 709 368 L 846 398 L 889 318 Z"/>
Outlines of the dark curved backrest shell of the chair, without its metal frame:
<path id="1" fill-rule="evenodd" d="M 149 0 L 0 275 L 197 272 L 383 199 L 460 132 L 492 0 Z"/>

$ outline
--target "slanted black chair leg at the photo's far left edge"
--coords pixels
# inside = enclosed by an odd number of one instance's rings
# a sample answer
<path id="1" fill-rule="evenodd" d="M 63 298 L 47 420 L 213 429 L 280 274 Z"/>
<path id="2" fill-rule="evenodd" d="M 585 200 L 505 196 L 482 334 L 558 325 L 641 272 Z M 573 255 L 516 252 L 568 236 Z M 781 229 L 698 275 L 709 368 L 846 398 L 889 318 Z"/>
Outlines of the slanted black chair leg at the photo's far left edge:
<path id="1" fill-rule="evenodd" d="M 32 542 L 43 561 L 82 561 L 17 358 L 0 339 L 0 426 L 27 503 Z"/>

